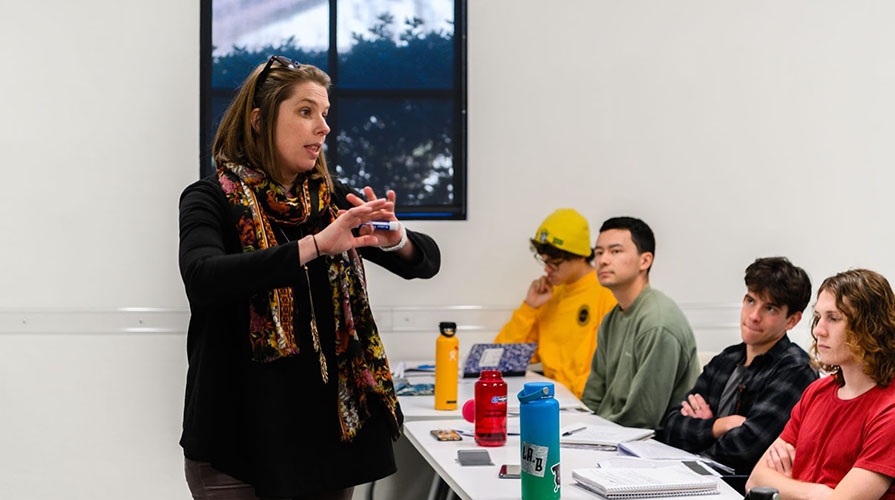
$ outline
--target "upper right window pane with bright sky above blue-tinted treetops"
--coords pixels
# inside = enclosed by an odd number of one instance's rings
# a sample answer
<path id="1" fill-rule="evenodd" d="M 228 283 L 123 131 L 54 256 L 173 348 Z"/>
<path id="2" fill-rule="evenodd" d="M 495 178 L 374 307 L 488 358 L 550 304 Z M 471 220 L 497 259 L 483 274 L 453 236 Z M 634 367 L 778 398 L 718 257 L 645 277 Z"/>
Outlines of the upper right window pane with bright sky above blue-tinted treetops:
<path id="1" fill-rule="evenodd" d="M 454 1 L 342 0 L 338 3 L 339 86 L 454 86 Z"/>

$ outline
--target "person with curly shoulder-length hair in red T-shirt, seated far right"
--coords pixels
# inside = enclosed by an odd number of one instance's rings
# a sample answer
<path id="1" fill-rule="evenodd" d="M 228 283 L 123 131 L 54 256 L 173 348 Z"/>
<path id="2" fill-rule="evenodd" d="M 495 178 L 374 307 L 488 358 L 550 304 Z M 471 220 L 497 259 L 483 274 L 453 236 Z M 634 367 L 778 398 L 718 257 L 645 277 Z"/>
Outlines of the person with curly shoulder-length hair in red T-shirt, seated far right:
<path id="1" fill-rule="evenodd" d="M 805 389 L 746 485 L 784 500 L 895 499 L 895 294 L 881 275 L 827 278 L 814 306 L 812 352 L 831 373 Z"/>

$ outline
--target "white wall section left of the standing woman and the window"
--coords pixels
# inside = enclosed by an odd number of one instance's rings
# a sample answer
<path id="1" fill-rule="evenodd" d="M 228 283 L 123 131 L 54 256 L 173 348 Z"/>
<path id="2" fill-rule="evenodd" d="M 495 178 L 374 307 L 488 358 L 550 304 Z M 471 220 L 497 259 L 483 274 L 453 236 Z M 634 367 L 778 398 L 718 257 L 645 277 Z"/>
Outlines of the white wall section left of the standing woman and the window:
<path id="1" fill-rule="evenodd" d="M 187 499 L 177 199 L 198 173 L 199 2 L 2 12 L 0 498 Z"/>

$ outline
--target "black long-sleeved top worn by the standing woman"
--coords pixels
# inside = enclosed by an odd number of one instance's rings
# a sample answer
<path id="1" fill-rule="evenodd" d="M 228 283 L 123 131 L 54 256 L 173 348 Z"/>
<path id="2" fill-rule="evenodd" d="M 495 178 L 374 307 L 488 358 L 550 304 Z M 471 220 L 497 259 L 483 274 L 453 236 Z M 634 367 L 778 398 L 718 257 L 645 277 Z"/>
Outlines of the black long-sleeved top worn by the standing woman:
<path id="1" fill-rule="evenodd" d="M 347 187 L 336 184 L 333 199 L 350 208 Z M 301 227 L 274 232 L 279 246 L 243 253 L 230 208 L 215 176 L 186 188 L 180 199 L 180 272 L 190 304 L 186 397 L 180 444 L 187 458 L 210 462 L 218 471 L 252 484 L 256 495 L 291 498 L 342 489 L 395 472 L 387 415 L 373 416 L 350 443 L 340 441 L 338 374 L 334 353 L 332 295 L 325 259 L 308 263 L 310 294 L 328 384 L 320 376 L 311 345 L 310 308 L 298 245 Z M 416 260 L 407 262 L 377 248 L 358 249 L 365 259 L 406 279 L 429 278 L 440 267 L 429 236 L 407 231 Z M 291 286 L 295 337 L 300 353 L 270 363 L 252 361 L 249 296 Z M 403 415 L 398 409 L 399 420 Z"/>

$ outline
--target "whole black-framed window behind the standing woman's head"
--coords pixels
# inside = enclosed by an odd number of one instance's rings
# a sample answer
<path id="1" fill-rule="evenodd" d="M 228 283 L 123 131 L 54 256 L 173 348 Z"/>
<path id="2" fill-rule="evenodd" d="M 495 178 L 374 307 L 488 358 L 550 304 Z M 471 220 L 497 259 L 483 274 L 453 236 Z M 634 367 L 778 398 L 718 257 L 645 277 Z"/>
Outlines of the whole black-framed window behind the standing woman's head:
<path id="1" fill-rule="evenodd" d="M 466 0 L 202 0 L 201 173 L 221 115 L 272 54 L 333 80 L 330 172 L 405 219 L 466 218 Z"/>

